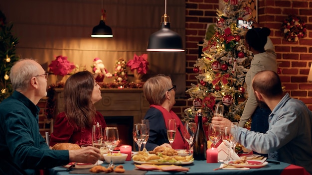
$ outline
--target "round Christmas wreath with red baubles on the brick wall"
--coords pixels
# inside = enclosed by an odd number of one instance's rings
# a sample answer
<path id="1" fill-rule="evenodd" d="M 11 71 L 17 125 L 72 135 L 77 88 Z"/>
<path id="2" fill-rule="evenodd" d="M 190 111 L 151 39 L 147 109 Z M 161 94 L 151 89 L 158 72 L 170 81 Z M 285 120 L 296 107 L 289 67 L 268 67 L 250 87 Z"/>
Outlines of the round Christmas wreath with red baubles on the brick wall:
<path id="1" fill-rule="evenodd" d="M 284 38 L 289 42 L 297 42 L 304 38 L 307 26 L 304 20 L 296 15 L 289 15 L 282 24 L 281 31 Z"/>

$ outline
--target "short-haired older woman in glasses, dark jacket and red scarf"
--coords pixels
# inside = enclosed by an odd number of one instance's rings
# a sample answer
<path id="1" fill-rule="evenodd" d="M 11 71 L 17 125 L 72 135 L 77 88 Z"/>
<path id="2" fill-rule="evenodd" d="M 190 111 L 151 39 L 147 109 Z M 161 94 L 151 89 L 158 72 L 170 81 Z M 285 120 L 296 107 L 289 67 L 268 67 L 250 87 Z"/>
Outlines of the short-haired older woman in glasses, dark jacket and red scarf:
<path id="1" fill-rule="evenodd" d="M 187 149 L 188 144 L 184 141 L 184 126 L 180 118 L 171 110 L 175 104 L 176 86 L 172 85 L 169 77 L 157 75 L 152 77 L 143 86 L 143 92 L 150 103 L 150 109 L 144 119 L 150 123 L 150 135 L 146 144 L 148 151 L 154 150 L 157 146 L 171 147 L 167 138 L 167 121 L 175 119 L 176 134 L 172 144 L 173 149 Z"/>

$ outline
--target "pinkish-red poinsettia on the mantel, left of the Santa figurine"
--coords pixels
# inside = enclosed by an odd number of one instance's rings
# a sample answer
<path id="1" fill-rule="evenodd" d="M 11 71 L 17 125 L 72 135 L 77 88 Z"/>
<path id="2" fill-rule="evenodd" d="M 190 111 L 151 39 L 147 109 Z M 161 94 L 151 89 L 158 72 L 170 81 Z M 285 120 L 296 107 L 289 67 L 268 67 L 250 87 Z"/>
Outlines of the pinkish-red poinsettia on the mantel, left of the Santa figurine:
<path id="1" fill-rule="evenodd" d="M 54 75 L 65 76 L 69 74 L 73 69 L 75 69 L 76 66 L 73 63 L 70 63 L 67 60 L 67 57 L 59 55 L 54 61 L 51 62 L 49 68 L 50 72 L 52 72 Z"/>

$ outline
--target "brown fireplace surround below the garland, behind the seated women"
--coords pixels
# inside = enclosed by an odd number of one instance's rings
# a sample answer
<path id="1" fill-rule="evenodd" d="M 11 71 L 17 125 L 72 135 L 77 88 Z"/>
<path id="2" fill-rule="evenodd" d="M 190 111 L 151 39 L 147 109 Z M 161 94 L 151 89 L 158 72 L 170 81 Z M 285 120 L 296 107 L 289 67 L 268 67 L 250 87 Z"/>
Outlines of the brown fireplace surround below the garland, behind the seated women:
<path id="1" fill-rule="evenodd" d="M 57 115 L 59 112 L 64 111 L 63 88 L 55 88 L 55 95 L 55 115 Z M 95 103 L 95 107 L 104 117 L 133 116 L 133 122 L 140 123 L 150 107 L 149 102 L 143 95 L 142 88 L 101 88 L 101 95 L 102 99 Z"/>

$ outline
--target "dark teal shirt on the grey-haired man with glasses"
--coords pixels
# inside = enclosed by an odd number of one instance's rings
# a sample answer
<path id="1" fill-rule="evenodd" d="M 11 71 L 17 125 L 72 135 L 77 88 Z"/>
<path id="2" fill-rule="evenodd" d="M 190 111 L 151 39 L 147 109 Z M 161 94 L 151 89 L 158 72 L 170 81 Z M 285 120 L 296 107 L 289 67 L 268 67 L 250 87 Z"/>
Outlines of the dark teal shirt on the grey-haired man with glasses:
<path id="1" fill-rule="evenodd" d="M 68 150 L 50 150 L 39 133 L 39 108 L 18 91 L 0 103 L 0 174 L 34 175 L 69 163 Z"/>

